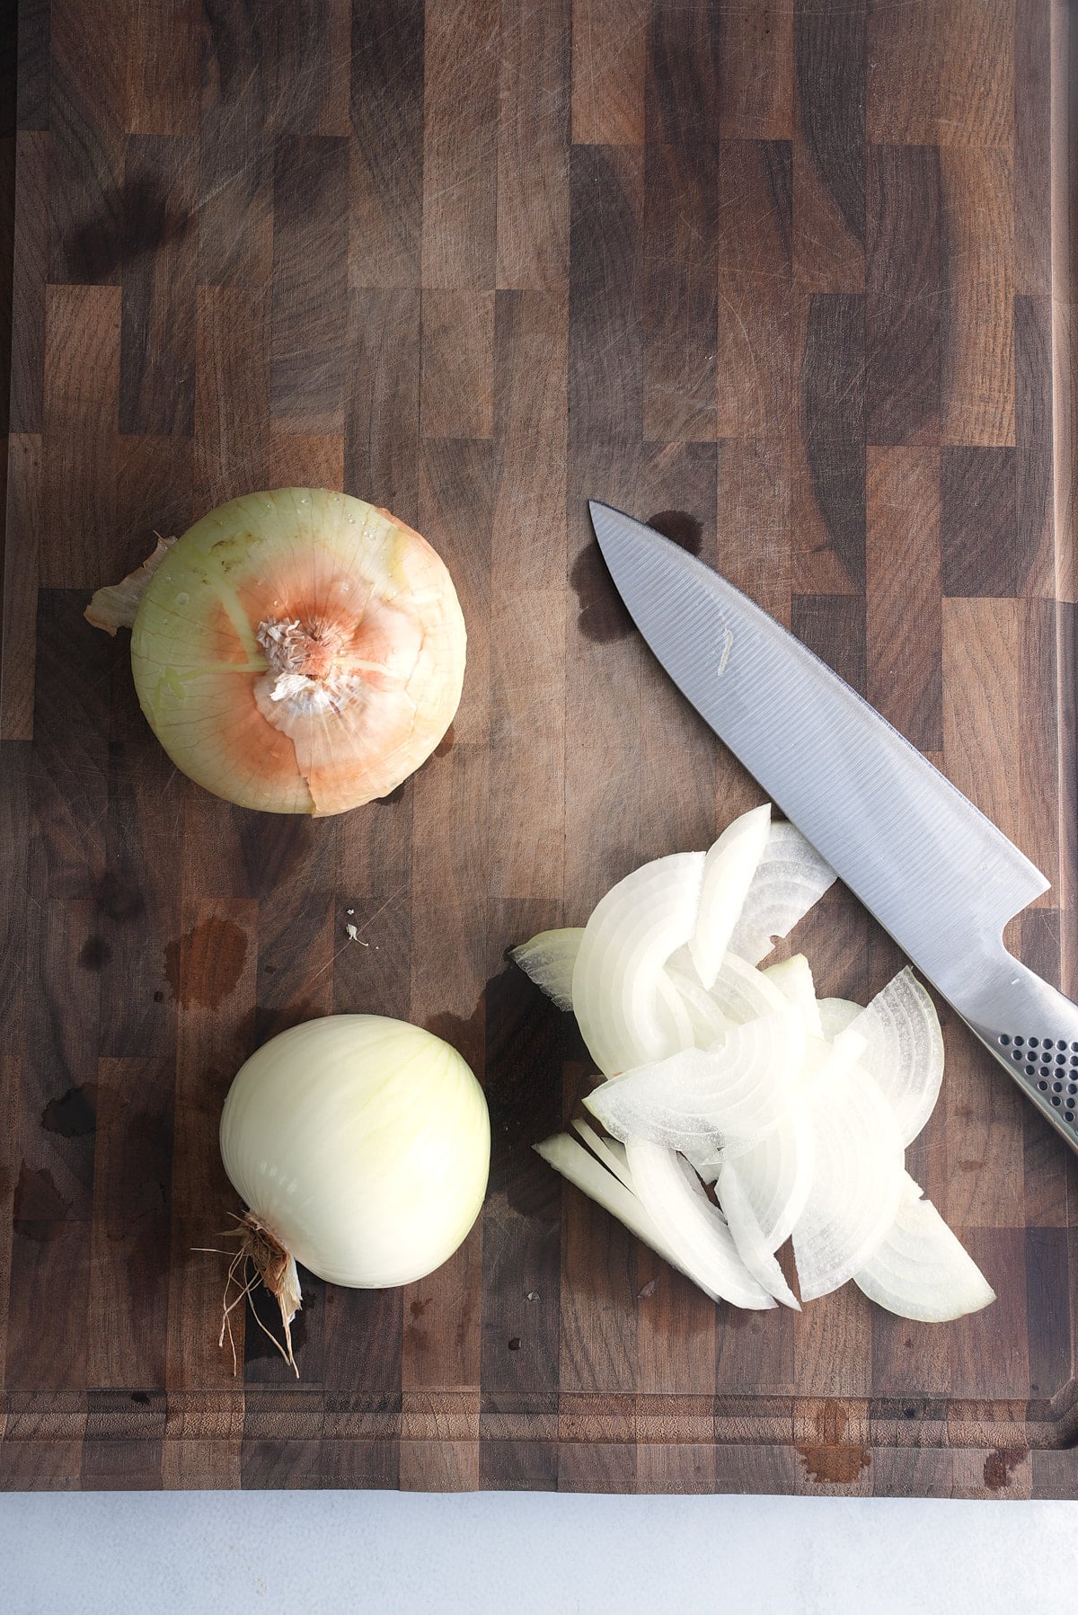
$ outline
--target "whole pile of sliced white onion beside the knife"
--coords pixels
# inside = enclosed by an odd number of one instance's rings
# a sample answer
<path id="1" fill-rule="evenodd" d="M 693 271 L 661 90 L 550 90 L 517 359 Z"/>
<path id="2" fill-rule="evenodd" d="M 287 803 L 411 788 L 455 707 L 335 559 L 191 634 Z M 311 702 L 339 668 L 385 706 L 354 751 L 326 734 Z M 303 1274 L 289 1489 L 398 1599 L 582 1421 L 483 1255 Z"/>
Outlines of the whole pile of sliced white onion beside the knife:
<path id="1" fill-rule="evenodd" d="M 583 1143 L 536 1148 L 712 1298 L 797 1308 L 852 1279 L 900 1316 L 959 1318 L 994 1292 L 904 1166 L 942 1080 L 930 995 L 905 969 L 865 1008 L 818 1000 L 802 954 L 758 967 L 833 880 L 758 808 L 626 875 L 583 930 L 515 948 L 607 1079 L 584 1100 L 605 1135 L 575 1119 Z"/>

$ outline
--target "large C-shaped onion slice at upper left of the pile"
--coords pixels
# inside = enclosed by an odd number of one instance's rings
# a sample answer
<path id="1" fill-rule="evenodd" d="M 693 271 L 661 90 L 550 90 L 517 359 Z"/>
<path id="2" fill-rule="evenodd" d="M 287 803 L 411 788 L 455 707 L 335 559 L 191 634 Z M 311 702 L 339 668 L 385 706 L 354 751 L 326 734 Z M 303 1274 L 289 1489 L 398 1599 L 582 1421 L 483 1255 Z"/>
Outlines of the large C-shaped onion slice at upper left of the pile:
<path id="1" fill-rule="evenodd" d="M 704 853 L 673 853 L 634 869 L 592 911 L 573 969 L 573 1008 L 605 1076 L 692 1042 L 660 990 L 670 954 L 687 943 L 704 879 Z"/>

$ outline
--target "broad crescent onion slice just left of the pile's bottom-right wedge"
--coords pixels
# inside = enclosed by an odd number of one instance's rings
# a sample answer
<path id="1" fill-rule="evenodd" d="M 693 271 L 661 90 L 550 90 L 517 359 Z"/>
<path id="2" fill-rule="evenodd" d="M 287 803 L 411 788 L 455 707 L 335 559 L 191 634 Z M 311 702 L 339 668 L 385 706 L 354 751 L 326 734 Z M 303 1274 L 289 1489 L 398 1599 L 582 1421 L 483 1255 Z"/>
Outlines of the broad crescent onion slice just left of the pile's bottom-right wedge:
<path id="1" fill-rule="evenodd" d="M 828 1295 L 871 1260 L 902 1195 L 902 1139 L 891 1106 L 860 1069 L 829 1077 L 807 1100 L 817 1171 L 794 1227 L 802 1302 Z"/>

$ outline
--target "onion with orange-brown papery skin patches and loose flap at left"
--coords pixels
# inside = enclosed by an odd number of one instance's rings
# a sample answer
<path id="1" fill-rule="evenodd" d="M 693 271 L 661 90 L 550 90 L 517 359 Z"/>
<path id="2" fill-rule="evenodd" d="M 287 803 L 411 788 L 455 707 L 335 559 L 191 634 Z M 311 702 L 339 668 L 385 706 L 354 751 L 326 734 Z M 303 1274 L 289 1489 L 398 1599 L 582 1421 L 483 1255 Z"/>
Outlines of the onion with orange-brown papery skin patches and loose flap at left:
<path id="1" fill-rule="evenodd" d="M 460 701 L 465 622 L 444 562 L 387 510 L 324 488 L 219 505 L 86 615 L 131 627 L 157 738 L 242 808 L 387 796 Z"/>

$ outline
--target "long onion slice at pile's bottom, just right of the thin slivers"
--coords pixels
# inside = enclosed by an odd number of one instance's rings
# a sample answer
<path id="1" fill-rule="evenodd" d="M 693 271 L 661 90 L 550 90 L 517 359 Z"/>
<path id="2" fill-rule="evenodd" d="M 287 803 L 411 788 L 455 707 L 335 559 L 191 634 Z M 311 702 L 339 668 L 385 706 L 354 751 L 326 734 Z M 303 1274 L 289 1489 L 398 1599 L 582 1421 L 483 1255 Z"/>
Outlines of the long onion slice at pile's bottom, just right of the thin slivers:
<path id="1" fill-rule="evenodd" d="M 657 1143 L 629 1143 L 626 1158 L 636 1193 L 675 1250 L 678 1266 L 708 1295 L 760 1311 L 775 1307 L 775 1297 L 752 1277 L 737 1255 L 721 1211 L 707 1198 L 699 1181 L 694 1187 L 686 1177 L 678 1155 Z"/>

